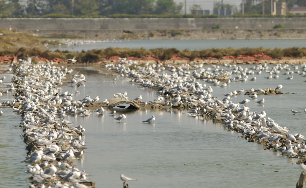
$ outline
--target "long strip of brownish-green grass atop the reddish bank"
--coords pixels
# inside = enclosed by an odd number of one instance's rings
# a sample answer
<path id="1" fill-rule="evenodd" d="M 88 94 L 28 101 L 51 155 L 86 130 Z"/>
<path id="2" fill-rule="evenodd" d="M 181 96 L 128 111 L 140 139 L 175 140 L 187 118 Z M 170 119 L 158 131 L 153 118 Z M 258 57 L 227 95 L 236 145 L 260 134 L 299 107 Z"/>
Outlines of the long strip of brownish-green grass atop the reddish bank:
<path id="1" fill-rule="evenodd" d="M 252 56 L 256 54 L 266 54 L 271 56 L 272 58 L 282 58 L 283 56 L 288 57 L 304 57 L 306 56 L 306 48 L 211 48 L 205 50 L 194 50 L 190 51 L 189 49 L 185 50 L 177 50 L 176 48 L 155 48 L 155 49 L 129 49 L 129 48 L 106 48 L 106 49 L 94 49 L 88 51 L 82 51 L 80 53 L 77 52 L 69 52 L 68 50 L 61 51 L 59 49 L 54 52 L 50 50 L 44 50 L 43 48 L 11 48 L 11 49 L 3 49 L 0 50 L 0 56 L 9 55 L 9 56 L 17 56 L 18 59 L 25 59 L 28 56 L 39 56 L 44 57 L 46 59 L 55 59 L 61 58 L 63 60 L 68 58 L 73 58 L 76 56 L 77 62 L 88 62 L 94 63 L 98 61 L 103 61 L 105 59 L 109 59 L 114 56 L 119 57 L 137 57 L 144 58 L 148 56 L 153 56 L 159 60 L 169 60 L 174 55 L 177 55 L 181 58 L 189 58 L 190 61 L 195 60 L 196 58 L 222 58 L 222 56 L 235 56 L 238 57 L 240 55 Z"/>

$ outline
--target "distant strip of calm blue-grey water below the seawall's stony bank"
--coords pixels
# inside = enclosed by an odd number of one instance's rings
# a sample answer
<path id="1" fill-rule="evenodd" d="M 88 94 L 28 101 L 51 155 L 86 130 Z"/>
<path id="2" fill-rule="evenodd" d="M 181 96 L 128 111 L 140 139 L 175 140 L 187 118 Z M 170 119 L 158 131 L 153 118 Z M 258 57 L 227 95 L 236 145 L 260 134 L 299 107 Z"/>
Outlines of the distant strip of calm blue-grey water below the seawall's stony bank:
<path id="1" fill-rule="evenodd" d="M 112 40 L 90 42 L 80 46 L 61 46 L 50 50 L 78 51 L 105 48 L 176 48 L 178 50 L 201 50 L 210 48 L 289 48 L 306 47 L 306 40 Z"/>

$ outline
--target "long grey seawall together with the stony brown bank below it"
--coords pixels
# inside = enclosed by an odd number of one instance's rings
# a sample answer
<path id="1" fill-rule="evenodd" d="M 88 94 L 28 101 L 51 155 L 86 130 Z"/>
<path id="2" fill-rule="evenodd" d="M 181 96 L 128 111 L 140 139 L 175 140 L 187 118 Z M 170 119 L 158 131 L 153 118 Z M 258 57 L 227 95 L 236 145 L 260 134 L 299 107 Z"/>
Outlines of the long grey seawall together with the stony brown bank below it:
<path id="1" fill-rule="evenodd" d="M 219 24 L 220 29 L 211 29 Z M 272 29 L 276 24 L 286 29 Z M 237 27 L 236 27 L 237 26 Z M 306 39 L 299 18 L 0 18 L 0 28 L 86 40 Z M 176 29 L 179 33 L 172 33 Z"/>

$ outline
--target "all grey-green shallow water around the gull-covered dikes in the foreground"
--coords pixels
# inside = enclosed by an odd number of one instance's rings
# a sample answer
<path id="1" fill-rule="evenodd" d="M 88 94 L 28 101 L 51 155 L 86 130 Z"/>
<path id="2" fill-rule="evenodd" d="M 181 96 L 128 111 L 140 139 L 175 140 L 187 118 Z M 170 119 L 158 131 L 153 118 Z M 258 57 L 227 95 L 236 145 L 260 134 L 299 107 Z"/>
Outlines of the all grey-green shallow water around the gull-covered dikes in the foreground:
<path id="1" fill-rule="evenodd" d="M 119 75 L 105 74 L 95 67 L 69 68 L 81 71 L 80 74 L 84 74 L 87 80 L 77 88 L 82 93 L 73 96 L 74 99 L 98 95 L 101 101 L 124 91 L 127 91 L 130 99 L 141 94 L 142 101 L 152 101 L 158 96 L 154 90 L 141 88 Z M 288 127 L 292 133 L 306 135 L 306 114 L 291 113 L 291 109 L 303 112 L 306 106 L 303 98 L 305 77 L 295 74 L 293 80 L 286 80 L 288 75 L 280 75 L 279 79 L 264 79 L 267 75 L 255 75 L 256 82 L 232 82 L 226 88 L 213 86 L 213 96 L 224 98 L 222 94 L 241 88 L 265 89 L 282 84 L 283 92 L 297 94 L 265 95 L 263 106 L 251 99 L 247 106 L 251 111 L 265 110 L 267 116 L 279 125 Z M 114 78 L 116 81 L 113 81 Z M 63 87 L 63 91 L 71 93 L 75 89 L 69 84 Z M 262 97 L 259 96 L 257 100 Z M 11 95 L 0 97 L 2 100 L 8 98 Z M 231 101 L 241 102 L 246 98 L 249 97 L 237 95 Z M 8 156 L 1 160 L 1 167 L 4 167 L 1 171 L 5 173 L 0 178 L 0 186 L 14 182 L 16 187 L 27 187 L 25 179 L 29 175 L 23 172 L 26 170 L 25 164 L 21 163 L 26 154 L 20 136 L 23 132 L 15 127 L 19 125 L 20 117 L 9 108 L 2 108 L 2 111 L 4 116 L 0 117 L 1 123 L 5 125 L 2 125 L 2 131 L 8 134 L 2 134 L 0 153 L 7 153 Z M 122 186 L 120 174 L 138 179 L 128 182 L 130 187 L 295 187 L 299 178 L 301 170 L 293 164 L 296 159 L 266 151 L 258 143 L 239 138 L 239 133 L 228 131 L 224 125 L 201 117 L 189 117 L 184 110 L 117 111 L 116 117 L 121 113 L 127 116 L 123 123 L 113 120 L 114 117 L 108 114 L 110 110 L 102 115 L 94 112 L 89 117 L 66 117 L 74 122 L 72 126 L 82 125 L 86 129 L 83 140 L 87 149 L 83 158 L 75 159 L 73 163 L 92 175 L 88 178 L 96 182 L 96 187 Z M 141 123 L 152 115 L 156 117 L 153 124 Z M 10 168 L 6 168 L 6 165 L 10 165 Z"/>

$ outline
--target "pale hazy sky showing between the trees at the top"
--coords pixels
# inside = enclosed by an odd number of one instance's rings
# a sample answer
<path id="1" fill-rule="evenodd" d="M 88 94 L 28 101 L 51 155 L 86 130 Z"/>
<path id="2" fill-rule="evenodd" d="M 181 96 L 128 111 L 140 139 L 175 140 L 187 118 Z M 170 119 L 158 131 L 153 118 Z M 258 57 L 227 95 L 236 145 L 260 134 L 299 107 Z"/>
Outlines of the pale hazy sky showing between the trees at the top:
<path id="1" fill-rule="evenodd" d="M 185 0 L 174 0 L 174 2 L 183 3 L 183 11 L 185 11 Z M 190 13 L 190 7 L 192 5 L 200 5 L 203 10 L 213 10 L 214 0 L 186 0 L 187 2 L 187 13 Z M 216 0 L 215 2 L 221 2 L 221 0 Z M 237 6 L 240 10 L 240 4 L 242 0 L 223 0 L 224 4 L 231 4 Z"/>

